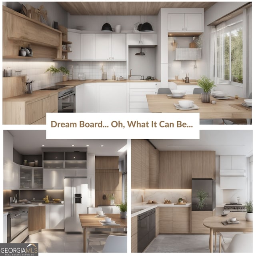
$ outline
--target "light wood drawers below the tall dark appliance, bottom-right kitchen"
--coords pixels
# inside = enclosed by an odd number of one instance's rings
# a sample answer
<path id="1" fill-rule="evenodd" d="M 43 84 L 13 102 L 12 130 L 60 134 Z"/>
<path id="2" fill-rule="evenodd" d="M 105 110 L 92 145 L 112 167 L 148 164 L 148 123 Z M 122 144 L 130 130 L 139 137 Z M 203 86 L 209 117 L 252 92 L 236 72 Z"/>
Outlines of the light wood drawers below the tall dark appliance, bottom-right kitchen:
<path id="1" fill-rule="evenodd" d="M 210 228 L 203 225 L 205 218 L 214 216 L 214 211 L 192 211 L 191 212 L 191 233 L 210 234 Z"/>

